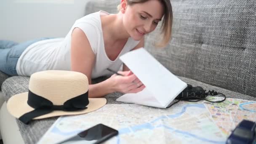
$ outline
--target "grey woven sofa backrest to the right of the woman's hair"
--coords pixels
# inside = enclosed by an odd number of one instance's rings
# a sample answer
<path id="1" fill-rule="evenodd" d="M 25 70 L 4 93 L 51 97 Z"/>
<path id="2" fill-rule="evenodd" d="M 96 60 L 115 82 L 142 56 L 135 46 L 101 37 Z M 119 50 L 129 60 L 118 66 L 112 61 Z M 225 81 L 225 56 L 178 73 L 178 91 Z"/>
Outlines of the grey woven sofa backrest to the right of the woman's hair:
<path id="1" fill-rule="evenodd" d="M 172 40 L 145 48 L 173 74 L 256 97 L 255 0 L 171 0 Z M 158 25 L 159 27 L 160 25 Z"/>

